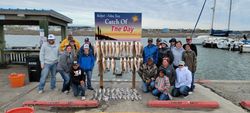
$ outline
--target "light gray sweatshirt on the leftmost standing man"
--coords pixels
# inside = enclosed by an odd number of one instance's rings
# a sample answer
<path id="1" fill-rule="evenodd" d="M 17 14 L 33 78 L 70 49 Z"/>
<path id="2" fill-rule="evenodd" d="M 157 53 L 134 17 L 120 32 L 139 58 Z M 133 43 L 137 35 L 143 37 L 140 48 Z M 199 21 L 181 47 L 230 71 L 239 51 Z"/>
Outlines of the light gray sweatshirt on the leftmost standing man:
<path id="1" fill-rule="evenodd" d="M 39 58 L 42 65 L 54 64 L 58 62 L 59 48 L 58 45 L 44 43 L 40 50 Z"/>

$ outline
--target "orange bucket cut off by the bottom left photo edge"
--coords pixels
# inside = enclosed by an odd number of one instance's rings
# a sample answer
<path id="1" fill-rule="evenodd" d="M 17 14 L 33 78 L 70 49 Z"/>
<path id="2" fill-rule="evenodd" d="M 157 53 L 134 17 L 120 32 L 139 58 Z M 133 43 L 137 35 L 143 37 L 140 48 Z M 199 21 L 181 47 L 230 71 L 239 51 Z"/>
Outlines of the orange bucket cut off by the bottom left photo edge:
<path id="1" fill-rule="evenodd" d="M 32 107 L 18 107 L 7 110 L 5 113 L 35 113 Z"/>

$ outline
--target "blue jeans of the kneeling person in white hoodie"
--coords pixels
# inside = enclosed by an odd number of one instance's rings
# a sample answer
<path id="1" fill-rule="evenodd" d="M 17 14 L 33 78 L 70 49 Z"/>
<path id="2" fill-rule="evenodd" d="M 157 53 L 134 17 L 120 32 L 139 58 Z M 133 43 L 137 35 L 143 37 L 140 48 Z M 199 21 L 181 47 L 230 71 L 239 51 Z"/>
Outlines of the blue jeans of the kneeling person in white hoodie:
<path id="1" fill-rule="evenodd" d="M 174 88 L 172 91 L 172 95 L 174 97 L 179 96 L 188 96 L 188 92 L 190 91 L 190 88 L 188 86 L 181 86 L 180 88 Z"/>

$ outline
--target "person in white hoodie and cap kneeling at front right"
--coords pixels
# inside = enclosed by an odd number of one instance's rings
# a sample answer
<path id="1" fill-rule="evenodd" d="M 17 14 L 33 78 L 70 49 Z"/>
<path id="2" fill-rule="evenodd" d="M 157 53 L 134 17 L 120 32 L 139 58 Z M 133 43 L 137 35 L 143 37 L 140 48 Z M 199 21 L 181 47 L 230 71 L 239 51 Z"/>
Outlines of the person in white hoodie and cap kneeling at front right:
<path id="1" fill-rule="evenodd" d="M 191 83 L 192 83 L 192 73 L 185 67 L 185 62 L 180 61 L 179 67 L 176 69 L 176 81 L 175 87 L 172 91 L 174 97 L 188 96 Z"/>

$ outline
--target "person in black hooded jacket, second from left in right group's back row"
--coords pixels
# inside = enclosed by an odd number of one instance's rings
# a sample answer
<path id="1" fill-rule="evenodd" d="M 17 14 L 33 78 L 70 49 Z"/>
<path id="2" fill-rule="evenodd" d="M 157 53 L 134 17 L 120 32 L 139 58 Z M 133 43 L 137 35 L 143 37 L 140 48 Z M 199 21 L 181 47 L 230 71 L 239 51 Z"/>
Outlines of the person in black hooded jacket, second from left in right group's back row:
<path id="1" fill-rule="evenodd" d="M 160 67 L 162 64 L 162 59 L 164 57 L 168 57 L 170 60 L 170 64 L 173 63 L 174 61 L 174 56 L 172 51 L 168 48 L 167 42 L 166 41 L 162 41 L 161 42 L 161 48 L 159 48 L 158 50 L 158 62 L 157 62 L 157 67 Z"/>

